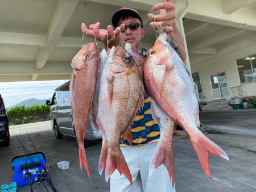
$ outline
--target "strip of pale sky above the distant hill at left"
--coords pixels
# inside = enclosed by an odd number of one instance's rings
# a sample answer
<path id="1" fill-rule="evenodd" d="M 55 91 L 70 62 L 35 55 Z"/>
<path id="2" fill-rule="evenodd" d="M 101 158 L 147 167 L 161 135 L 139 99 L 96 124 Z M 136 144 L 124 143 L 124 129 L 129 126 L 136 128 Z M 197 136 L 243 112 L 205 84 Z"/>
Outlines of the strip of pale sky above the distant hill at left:
<path id="1" fill-rule="evenodd" d="M 26 99 L 49 99 L 54 90 L 68 80 L 0 82 L 0 94 L 5 107 L 10 107 Z"/>

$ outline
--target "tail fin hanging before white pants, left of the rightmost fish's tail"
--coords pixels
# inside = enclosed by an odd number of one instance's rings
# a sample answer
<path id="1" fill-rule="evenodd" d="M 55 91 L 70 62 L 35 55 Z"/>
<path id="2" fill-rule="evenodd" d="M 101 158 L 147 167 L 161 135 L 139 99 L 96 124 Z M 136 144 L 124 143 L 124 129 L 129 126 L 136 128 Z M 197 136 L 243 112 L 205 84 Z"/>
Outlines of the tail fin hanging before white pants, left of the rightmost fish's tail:
<path id="1" fill-rule="evenodd" d="M 162 164 L 164 164 L 168 170 L 172 181 L 172 187 L 175 187 L 174 153 L 172 143 L 170 141 L 160 139 L 156 146 L 154 156 L 150 162 L 149 175 L 151 176 L 154 170 Z"/>

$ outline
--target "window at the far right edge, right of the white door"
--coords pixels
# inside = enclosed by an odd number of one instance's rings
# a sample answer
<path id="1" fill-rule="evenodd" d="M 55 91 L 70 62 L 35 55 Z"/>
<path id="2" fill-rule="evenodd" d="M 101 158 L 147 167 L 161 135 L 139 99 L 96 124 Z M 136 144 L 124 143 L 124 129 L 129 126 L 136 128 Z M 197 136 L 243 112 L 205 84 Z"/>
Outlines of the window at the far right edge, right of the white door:
<path id="1" fill-rule="evenodd" d="M 253 82 L 255 73 L 253 74 L 253 68 L 251 64 L 251 57 L 247 56 L 237 60 L 237 68 L 240 76 L 241 84 L 245 82 Z"/>

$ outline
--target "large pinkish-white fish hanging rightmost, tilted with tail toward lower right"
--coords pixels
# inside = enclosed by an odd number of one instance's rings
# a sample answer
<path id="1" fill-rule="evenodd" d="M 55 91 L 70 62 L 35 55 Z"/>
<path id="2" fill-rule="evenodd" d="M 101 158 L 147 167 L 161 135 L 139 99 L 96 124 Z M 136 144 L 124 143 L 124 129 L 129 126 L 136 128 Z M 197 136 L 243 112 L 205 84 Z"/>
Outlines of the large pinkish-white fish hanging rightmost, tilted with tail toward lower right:
<path id="1" fill-rule="evenodd" d="M 167 41 L 159 36 L 148 50 L 144 63 L 144 81 L 151 98 L 187 133 L 200 164 L 210 178 L 209 153 L 229 160 L 218 145 L 199 131 L 199 105 L 193 80 L 183 61 Z"/>

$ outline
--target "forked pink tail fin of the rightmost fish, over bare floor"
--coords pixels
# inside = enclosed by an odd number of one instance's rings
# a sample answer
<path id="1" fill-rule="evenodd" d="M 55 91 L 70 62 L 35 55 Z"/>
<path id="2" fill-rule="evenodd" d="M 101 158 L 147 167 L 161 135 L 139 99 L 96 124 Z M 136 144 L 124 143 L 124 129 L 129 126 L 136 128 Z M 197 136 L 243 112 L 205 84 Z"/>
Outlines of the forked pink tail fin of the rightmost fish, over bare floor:
<path id="1" fill-rule="evenodd" d="M 209 153 L 218 155 L 229 161 L 228 155 L 226 155 L 226 153 L 220 147 L 218 147 L 218 145 L 213 143 L 213 141 L 208 139 L 208 137 L 205 136 L 203 133 L 199 132 L 199 134 L 193 137 L 189 137 L 189 140 L 191 141 L 192 146 L 196 151 L 197 157 L 199 158 L 199 161 L 204 170 L 204 173 L 209 178 L 212 178 L 210 174 L 209 161 L 208 161 Z"/>

